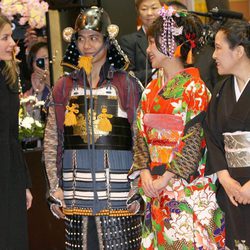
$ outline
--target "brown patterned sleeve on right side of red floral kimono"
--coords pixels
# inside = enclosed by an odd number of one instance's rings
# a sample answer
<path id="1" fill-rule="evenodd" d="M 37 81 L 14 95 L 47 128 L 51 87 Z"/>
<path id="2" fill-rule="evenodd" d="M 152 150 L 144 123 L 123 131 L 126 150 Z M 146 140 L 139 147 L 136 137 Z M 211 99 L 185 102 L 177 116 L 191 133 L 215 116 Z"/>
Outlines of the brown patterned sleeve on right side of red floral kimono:
<path id="1" fill-rule="evenodd" d="M 204 112 L 202 112 L 186 124 L 186 132 L 182 140 L 183 147 L 180 152 L 175 154 L 167 169 L 186 180 L 196 172 L 202 159 L 202 142 L 204 138 L 201 123 L 204 115 Z"/>

